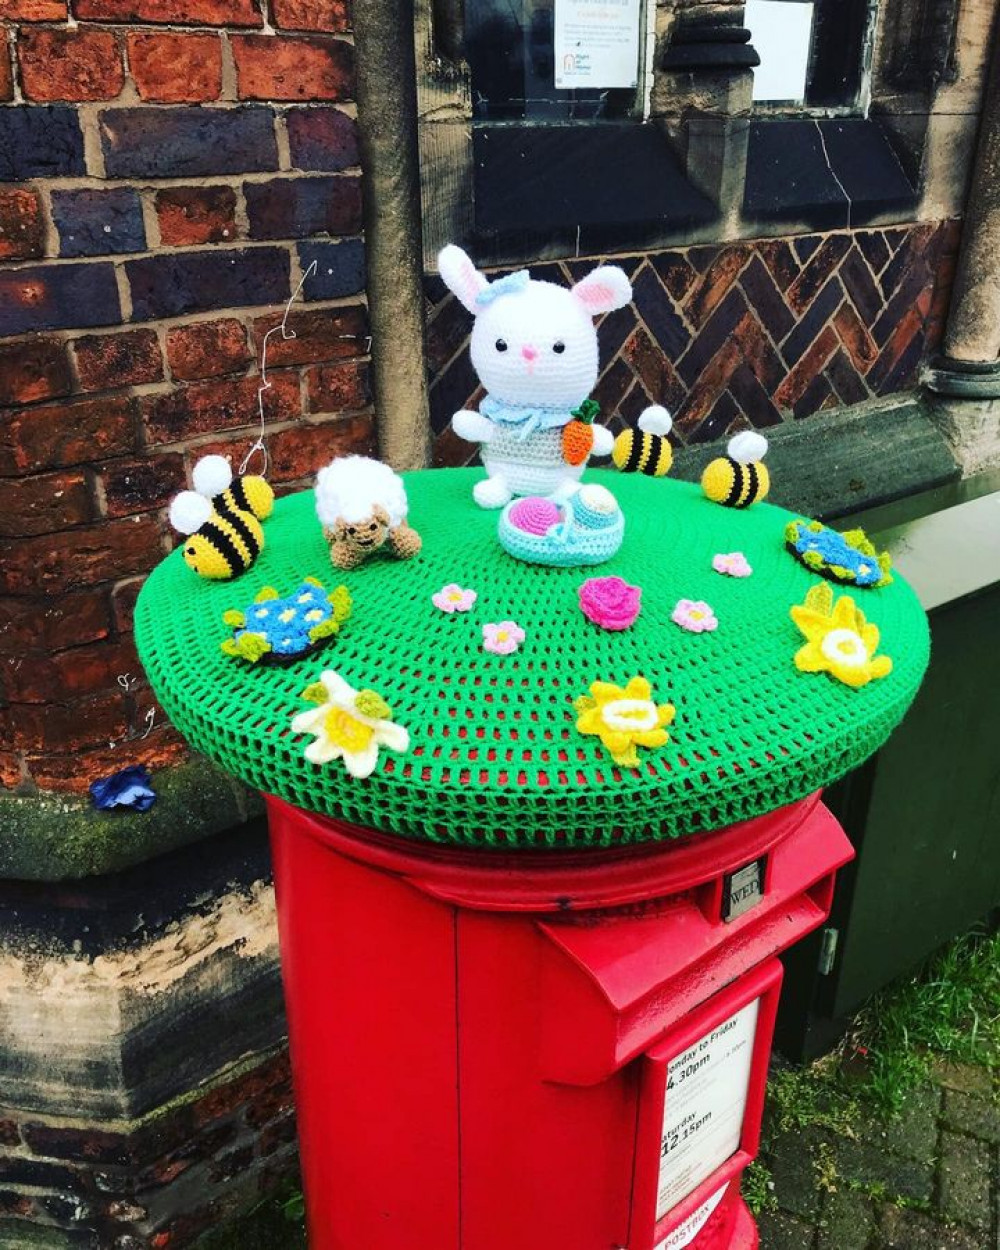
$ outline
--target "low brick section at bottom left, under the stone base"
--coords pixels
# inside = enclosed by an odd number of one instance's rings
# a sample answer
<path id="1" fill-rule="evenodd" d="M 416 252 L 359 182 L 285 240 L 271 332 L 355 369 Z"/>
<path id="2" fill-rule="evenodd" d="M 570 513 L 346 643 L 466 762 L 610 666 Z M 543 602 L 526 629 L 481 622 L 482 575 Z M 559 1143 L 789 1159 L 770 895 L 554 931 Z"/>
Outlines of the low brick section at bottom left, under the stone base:
<path id="1" fill-rule="evenodd" d="M 296 1172 L 285 1050 L 130 1125 L 4 1112 L 0 1245 L 179 1250 Z"/>

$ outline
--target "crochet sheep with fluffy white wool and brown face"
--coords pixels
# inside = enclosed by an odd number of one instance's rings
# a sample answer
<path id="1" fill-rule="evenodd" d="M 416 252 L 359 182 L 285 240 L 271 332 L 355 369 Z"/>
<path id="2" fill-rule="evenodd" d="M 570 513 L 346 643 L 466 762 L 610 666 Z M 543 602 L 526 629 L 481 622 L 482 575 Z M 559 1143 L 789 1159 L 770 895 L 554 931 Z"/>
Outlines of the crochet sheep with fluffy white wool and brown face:
<path id="1" fill-rule="evenodd" d="M 389 465 L 368 456 L 342 456 L 316 476 L 316 515 L 338 569 L 355 569 L 389 544 L 401 560 L 420 550 L 406 524 L 406 490 Z"/>

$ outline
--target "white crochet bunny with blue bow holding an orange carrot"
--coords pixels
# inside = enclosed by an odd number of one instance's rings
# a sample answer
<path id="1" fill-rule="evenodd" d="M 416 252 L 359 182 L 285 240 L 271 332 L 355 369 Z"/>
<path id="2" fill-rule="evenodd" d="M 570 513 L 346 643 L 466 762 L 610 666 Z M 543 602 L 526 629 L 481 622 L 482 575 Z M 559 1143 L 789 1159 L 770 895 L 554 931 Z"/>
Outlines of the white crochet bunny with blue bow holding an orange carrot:
<path id="1" fill-rule="evenodd" d="M 482 444 L 489 476 L 472 494 L 480 508 L 502 508 L 514 495 L 566 495 L 588 450 L 564 454 L 562 430 L 598 380 L 594 318 L 628 304 L 622 270 L 601 265 L 566 290 L 528 270 L 490 282 L 460 248 L 438 258 L 441 279 L 475 318 L 471 355 L 488 395 L 480 411 L 452 418 L 455 432 Z M 586 418 L 584 418 L 586 420 Z M 614 438 L 595 425 L 590 455 L 611 454 Z"/>

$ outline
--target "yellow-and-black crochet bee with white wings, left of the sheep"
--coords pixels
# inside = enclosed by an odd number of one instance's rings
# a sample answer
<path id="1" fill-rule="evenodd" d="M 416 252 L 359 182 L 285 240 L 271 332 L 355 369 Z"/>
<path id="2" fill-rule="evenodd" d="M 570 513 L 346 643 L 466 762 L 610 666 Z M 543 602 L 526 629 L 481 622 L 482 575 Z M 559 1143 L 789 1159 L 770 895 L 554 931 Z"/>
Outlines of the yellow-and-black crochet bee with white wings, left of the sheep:
<path id="1" fill-rule="evenodd" d="M 274 491 L 264 478 L 232 478 L 224 456 L 202 456 L 191 474 L 194 490 L 170 505 L 170 524 L 186 534 L 184 560 L 200 578 L 229 581 L 245 572 L 264 546 L 262 520 Z"/>

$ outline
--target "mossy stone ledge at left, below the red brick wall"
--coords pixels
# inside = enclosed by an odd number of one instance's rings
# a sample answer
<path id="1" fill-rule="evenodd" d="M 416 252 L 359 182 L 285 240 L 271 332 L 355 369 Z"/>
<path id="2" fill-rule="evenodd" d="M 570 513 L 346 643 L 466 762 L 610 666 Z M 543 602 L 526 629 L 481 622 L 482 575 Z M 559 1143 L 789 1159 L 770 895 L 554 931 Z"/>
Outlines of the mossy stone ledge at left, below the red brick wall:
<path id="1" fill-rule="evenodd" d="M 232 829 L 264 805 L 204 756 L 156 772 L 145 812 L 96 811 L 71 795 L 0 794 L 0 878 L 61 881 L 115 872 Z"/>

